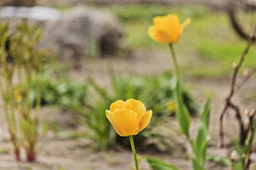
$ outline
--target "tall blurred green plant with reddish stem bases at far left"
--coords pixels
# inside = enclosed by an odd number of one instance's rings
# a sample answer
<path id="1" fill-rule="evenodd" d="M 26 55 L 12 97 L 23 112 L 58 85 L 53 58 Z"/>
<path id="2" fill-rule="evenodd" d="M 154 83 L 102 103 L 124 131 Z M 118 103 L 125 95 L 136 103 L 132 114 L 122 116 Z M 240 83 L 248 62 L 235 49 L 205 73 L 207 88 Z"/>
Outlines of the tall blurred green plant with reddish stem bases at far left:
<path id="1" fill-rule="evenodd" d="M 15 157 L 20 160 L 20 146 L 26 150 L 27 160 L 36 159 L 36 143 L 40 112 L 40 74 L 49 56 L 47 50 L 38 50 L 36 45 L 42 36 L 42 29 L 23 21 L 10 34 L 10 24 L 1 22 L 1 82 L 4 112 L 14 148 Z M 17 76 L 17 78 L 16 78 Z M 36 81 L 36 103 L 32 110 L 30 84 Z M 15 89 L 15 85 L 23 83 Z"/>

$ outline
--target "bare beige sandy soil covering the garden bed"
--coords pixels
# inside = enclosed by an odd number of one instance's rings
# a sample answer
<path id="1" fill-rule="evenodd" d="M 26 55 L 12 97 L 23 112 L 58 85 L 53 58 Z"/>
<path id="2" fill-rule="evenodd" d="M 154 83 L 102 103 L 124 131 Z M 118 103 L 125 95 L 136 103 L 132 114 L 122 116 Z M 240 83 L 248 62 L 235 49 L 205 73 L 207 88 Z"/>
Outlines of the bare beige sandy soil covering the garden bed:
<path id="1" fill-rule="evenodd" d="M 84 80 L 86 78 L 84 74 L 84 67 L 87 67 L 95 77 L 95 80 L 102 85 L 102 87 L 109 88 L 108 73 L 106 71 L 106 63 L 113 62 L 113 67 L 118 74 L 146 74 L 156 75 L 172 68 L 172 60 L 170 59 L 168 52 L 134 52 L 131 57 L 117 58 L 117 59 L 84 59 L 81 61 L 81 69 L 78 71 L 72 71 L 70 76 L 76 78 L 76 80 Z M 186 64 L 188 60 L 179 60 L 180 64 Z M 211 125 L 210 132 L 212 139 L 209 143 L 208 153 L 214 155 L 228 156 L 230 149 L 219 149 L 218 145 L 218 118 L 220 110 L 223 107 L 223 99 L 227 96 L 229 89 L 229 78 L 223 80 L 196 80 L 195 78 L 189 78 L 184 74 L 186 87 L 188 87 L 193 95 L 196 97 L 198 103 L 203 104 L 207 94 L 212 94 L 212 111 L 211 111 Z M 243 104 L 241 109 L 252 108 L 253 101 L 248 99 L 251 90 L 255 88 L 256 80 L 252 79 L 244 85 L 236 95 L 235 103 Z M 250 90 L 248 90 L 250 89 Z M 2 107 L 1 107 L 2 108 Z M 63 113 L 62 110 L 54 107 L 47 107 L 42 109 L 42 115 L 44 120 L 50 120 L 54 118 L 57 122 L 60 122 L 61 128 L 70 129 L 72 124 L 70 121 L 74 118 L 69 113 Z M 54 114 L 53 114 L 54 113 Z M 0 111 L 0 148 L 8 148 L 11 150 L 11 145 L 8 140 L 8 133 L 4 120 L 4 113 Z M 177 125 L 174 119 L 169 120 L 166 124 Z M 193 118 L 191 134 L 195 136 L 196 127 L 198 125 L 198 118 Z M 230 128 L 232 127 L 232 128 Z M 228 138 L 236 138 L 239 133 L 234 113 L 230 112 L 225 117 L 225 128 L 228 129 Z M 81 130 L 82 129 L 82 130 Z M 83 131 L 81 127 L 72 127 L 73 131 Z M 229 141 L 226 138 L 226 141 Z M 133 166 L 133 158 L 130 150 L 121 151 L 109 151 L 109 152 L 93 152 L 90 148 L 92 142 L 88 139 L 58 139 L 49 132 L 45 138 L 40 138 L 38 145 L 38 160 L 33 164 L 26 162 L 16 162 L 11 153 L 6 155 L 0 155 L 0 170 L 2 169 L 131 169 Z M 182 140 L 180 145 L 184 145 L 185 140 Z M 189 148 L 186 146 L 186 148 Z M 189 150 L 189 149 L 188 149 Z M 184 157 L 184 154 L 175 153 L 158 153 L 150 152 L 138 152 L 141 155 L 141 169 L 149 169 L 145 162 L 146 155 L 152 155 L 164 159 L 180 169 L 191 169 L 189 160 Z M 23 155 L 24 156 L 24 155 Z M 207 162 L 207 169 L 228 169 L 225 167 L 217 166 L 214 163 Z"/>

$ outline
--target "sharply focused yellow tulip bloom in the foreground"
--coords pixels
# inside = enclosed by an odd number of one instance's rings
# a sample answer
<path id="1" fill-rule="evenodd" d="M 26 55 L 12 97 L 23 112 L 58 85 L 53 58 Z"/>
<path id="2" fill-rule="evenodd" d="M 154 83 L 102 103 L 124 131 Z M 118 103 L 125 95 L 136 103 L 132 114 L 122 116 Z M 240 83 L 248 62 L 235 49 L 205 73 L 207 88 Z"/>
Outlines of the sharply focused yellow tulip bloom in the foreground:
<path id="1" fill-rule="evenodd" d="M 135 99 L 118 100 L 106 110 L 106 116 L 117 134 L 132 136 L 147 127 L 152 117 L 152 110 L 147 111 L 144 104 Z"/>

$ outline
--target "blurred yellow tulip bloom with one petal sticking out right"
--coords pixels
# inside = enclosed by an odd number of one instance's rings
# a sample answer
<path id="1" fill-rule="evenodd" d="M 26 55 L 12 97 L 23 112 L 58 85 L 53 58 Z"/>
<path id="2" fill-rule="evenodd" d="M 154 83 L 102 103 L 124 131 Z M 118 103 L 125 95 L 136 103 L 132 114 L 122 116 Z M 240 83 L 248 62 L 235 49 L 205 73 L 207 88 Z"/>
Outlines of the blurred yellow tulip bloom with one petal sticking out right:
<path id="1" fill-rule="evenodd" d="M 162 17 L 153 18 L 153 26 L 148 27 L 148 36 L 161 44 L 176 43 L 180 39 L 183 29 L 190 24 L 187 18 L 180 24 L 178 15 L 169 14 Z"/>

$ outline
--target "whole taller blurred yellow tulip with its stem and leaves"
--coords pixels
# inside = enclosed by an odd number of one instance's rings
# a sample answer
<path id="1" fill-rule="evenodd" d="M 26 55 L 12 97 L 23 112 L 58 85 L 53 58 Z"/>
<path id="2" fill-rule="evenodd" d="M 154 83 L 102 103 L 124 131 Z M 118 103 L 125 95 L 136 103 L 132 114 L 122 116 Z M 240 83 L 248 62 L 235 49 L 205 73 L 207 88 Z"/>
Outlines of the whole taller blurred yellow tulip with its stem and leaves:
<path id="1" fill-rule="evenodd" d="M 186 23 L 186 22 L 185 22 Z M 192 155 L 189 157 L 192 163 L 192 167 L 195 170 L 204 170 L 204 164 L 206 160 L 206 150 L 207 145 L 210 140 L 209 134 L 209 118 L 210 118 L 210 99 L 205 103 L 204 110 L 200 115 L 200 124 L 198 126 L 197 136 L 193 140 L 189 134 L 189 129 L 191 125 L 191 116 L 189 115 L 188 108 L 184 103 L 183 99 L 183 85 L 180 78 L 179 65 L 177 62 L 177 57 L 173 47 L 173 43 L 179 41 L 180 34 L 182 34 L 182 24 L 180 25 L 179 17 L 177 15 L 166 15 L 163 17 L 154 18 L 153 26 L 148 28 L 148 36 L 158 43 L 166 44 L 170 46 L 170 52 L 172 53 L 173 66 L 175 70 L 175 90 L 174 96 L 176 101 L 176 113 L 175 116 L 179 122 L 179 129 L 182 134 L 186 136 L 187 141 L 189 142 Z M 188 25 L 188 24 L 186 24 Z M 173 27 L 173 31 L 170 31 L 170 27 Z M 167 32 L 169 31 L 169 32 Z M 168 33 L 168 34 L 167 34 Z M 178 39 L 176 39 L 178 38 Z M 161 160 L 155 161 L 154 164 L 152 161 L 148 160 L 148 164 L 152 167 L 155 167 L 156 164 L 159 166 L 159 169 L 163 169 L 161 165 L 168 165 Z M 173 169 L 173 167 L 166 167 L 166 169 Z"/>

